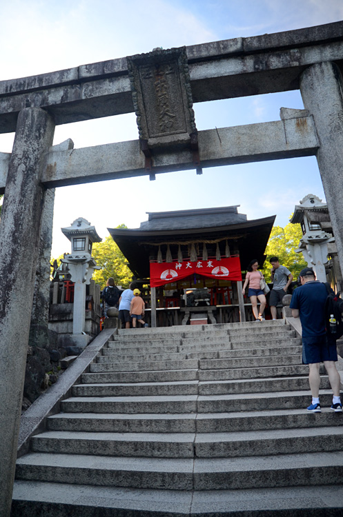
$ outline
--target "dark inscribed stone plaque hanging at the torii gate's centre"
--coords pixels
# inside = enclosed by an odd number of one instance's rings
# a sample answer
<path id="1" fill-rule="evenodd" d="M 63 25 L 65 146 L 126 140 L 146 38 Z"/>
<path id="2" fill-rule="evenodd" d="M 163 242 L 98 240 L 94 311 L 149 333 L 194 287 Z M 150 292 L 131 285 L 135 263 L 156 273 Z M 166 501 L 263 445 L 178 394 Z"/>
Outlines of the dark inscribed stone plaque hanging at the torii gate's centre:
<path id="1" fill-rule="evenodd" d="M 190 141 L 196 132 L 186 50 L 128 57 L 139 138 L 149 148 Z"/>

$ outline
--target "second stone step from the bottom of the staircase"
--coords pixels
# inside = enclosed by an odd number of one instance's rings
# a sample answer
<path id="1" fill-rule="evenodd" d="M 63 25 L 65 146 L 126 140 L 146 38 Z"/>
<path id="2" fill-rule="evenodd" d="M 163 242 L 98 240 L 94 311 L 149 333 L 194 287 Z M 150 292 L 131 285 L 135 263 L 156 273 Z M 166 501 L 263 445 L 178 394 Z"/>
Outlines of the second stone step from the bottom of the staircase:
<path id="1" fill-rule="evenodd" d="M 19 480 L 149 489 L 218 490 L 339 485 L 343 452 L 226 458 L 128 458 L 86 454 L 26 454 Z"/>

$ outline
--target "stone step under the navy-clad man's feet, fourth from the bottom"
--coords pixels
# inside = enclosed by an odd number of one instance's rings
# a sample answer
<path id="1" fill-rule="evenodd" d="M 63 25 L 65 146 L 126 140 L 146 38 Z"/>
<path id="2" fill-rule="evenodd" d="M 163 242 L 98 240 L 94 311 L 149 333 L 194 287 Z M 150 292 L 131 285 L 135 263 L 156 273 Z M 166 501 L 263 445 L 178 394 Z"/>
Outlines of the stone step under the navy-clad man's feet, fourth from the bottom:
<path id="1" fill-rule="evenodd" d="M 60 413 L 48 418 L 51 431 L 117 433 L 221 433 L 297 427 L 342 426 L 343 414 L 322 405 L 322 413 L 306 409 L 183 414 Z"/>

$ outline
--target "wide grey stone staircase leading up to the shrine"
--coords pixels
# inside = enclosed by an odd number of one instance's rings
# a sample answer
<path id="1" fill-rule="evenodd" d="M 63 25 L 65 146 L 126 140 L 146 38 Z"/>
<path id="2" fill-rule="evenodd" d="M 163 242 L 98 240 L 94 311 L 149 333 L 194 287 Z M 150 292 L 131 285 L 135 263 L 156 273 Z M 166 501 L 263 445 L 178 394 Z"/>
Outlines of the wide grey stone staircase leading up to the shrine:
<path id="1" fill-rule="evenodd" d="M 342 516 L 343 418 L 284 321 L 121 330 L 17 460 L 12 517 Z"/>

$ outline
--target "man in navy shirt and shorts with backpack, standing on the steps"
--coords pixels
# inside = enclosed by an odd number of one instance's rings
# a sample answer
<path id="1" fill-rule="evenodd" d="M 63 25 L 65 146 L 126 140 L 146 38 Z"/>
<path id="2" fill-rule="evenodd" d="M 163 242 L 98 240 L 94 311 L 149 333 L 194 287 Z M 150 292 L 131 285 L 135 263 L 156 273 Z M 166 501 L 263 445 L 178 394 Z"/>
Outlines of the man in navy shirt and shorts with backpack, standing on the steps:
<path id="1" fill-rule="evenodd" d="M 342 412 L 340 399 L 340 374 L 337 372 L 336 339 L 326 328 L 326 285 L 315 280 L 311 267 L 305 267 L 300 272 L 300 287 L 292 296 L 291 310 L 294 318 L 300 316 L 302 323 L 302 363 L 308 365 L 308 381 L 311 388 L 312 402 L 308 411 L 320 413 L 320 363 L 329 376 L 333 389 L 331 409 Z"/>

